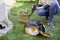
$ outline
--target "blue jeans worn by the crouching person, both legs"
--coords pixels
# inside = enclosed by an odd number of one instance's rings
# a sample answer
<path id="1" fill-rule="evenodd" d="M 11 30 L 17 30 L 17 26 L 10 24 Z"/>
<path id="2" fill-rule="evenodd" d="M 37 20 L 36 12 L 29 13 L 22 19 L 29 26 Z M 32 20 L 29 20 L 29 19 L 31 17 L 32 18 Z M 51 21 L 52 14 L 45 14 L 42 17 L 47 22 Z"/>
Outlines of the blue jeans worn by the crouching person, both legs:
<path id="1" fill-rule="evenodd" d="M 48 12 L 49 11 L 49 12 Z M 60 8 L 56 2 L 53 2 L 51 6 L 49 7 L 49 10 L 46 9 L 39 9 L 38 10 L 38 15 L 40 16 L 46 16 L 49 14 L 48 21 L 52 21 L 54 18 L 54 15 L 60 12 Z"/>

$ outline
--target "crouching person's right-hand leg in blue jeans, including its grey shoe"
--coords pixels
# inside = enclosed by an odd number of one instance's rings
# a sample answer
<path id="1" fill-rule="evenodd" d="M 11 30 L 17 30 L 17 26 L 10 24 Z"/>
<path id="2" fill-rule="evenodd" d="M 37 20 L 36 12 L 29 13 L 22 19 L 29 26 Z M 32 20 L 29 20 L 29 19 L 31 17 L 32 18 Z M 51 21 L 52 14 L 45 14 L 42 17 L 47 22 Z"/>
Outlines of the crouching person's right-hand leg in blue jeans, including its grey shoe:
<path id="1" fill-rule="evenodd" d="M 57 14 L 58 11 L 56 11 L 58 9 L 58 4 L 56 2 L 53 2 L 51 4 L 51 6 L 49 7 L 49 25 L 50 27 L 54 28 L 54 25 L 52 23 L 54 15 Z"/>

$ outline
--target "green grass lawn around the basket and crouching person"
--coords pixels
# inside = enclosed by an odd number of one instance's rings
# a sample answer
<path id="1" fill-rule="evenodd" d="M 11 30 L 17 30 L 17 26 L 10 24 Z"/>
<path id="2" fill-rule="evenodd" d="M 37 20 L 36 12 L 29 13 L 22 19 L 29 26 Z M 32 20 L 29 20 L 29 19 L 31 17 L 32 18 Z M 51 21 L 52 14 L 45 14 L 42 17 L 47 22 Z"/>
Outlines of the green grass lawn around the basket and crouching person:
<path id="1" fill-rule="evenodd" d="M 52 37 L 46 38 L 42 36 L 31 36 L 26 35 L 24 33 L 24 24 L 19 22 L 19 16 L 18 12 L 19 10 L 25 9 L 25 8 L 31 8 L 33 5 L 33 2 L 18 2 L 15 4 L 15 7 L 13 7 L 11 13 L 9 14 L 9 19 L 13 22 L 13 30 L 8 32 L 7 35 L 4 35 L 0 37 L 0 40 L 60 40 L 60 15 L 56 15 L 54 17 L 54 24 L 55 28 L 51 29 L 49 26 L 46 25 L 45 21 L 43 20 L 44 17 L 38 16 L 37 11 L 34 12 L 33 15 L 31 15 L 30 20 L 38 19 L 42 21 L 46 28 L 53 34 Z"/>

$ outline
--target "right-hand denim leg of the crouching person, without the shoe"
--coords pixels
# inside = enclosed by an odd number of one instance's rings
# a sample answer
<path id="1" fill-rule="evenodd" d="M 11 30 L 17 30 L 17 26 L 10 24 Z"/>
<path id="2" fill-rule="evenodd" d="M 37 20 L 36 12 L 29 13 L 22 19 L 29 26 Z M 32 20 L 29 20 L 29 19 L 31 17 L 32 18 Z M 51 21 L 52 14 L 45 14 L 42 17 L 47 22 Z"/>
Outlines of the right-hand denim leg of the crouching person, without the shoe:
<path id="1" fill-rule="evenodd" d="M 55 2 L 53 2 L 49 7 L 49 21 L 53 21 L 53 17 L 56 14 L 57 7 L 58 5 Z"/>

